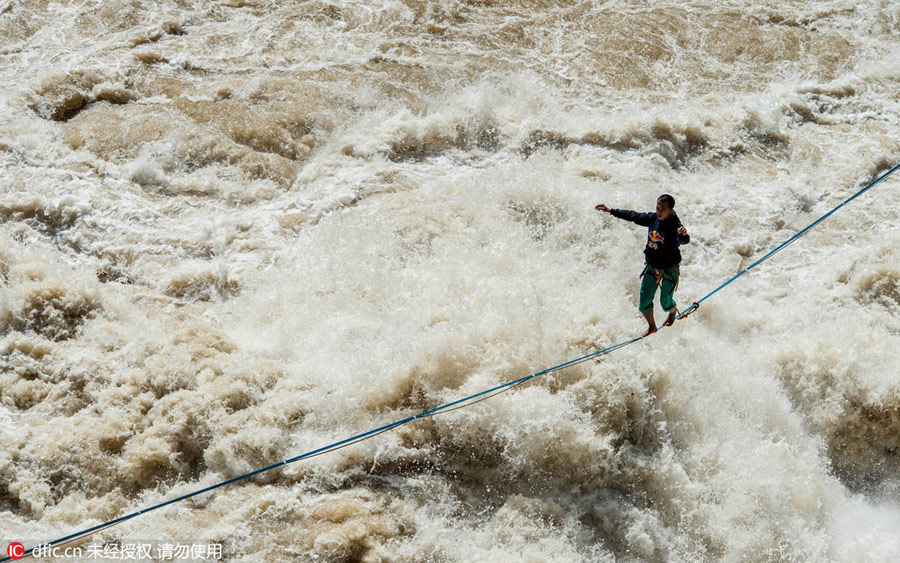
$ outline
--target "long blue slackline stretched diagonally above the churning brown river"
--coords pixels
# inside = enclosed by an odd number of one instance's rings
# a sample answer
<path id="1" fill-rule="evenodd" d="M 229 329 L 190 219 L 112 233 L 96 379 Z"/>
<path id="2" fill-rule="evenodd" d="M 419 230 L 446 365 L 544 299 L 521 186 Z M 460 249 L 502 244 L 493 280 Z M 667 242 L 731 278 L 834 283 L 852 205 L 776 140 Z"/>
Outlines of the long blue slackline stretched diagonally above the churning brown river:
<path id="1" fill-rule="evenodd" d="M 747 272 L 749 272 L 750 270 L 752 270 L 753 268 L 755 268 L 756 266 L 758 266 L 758 265 L 761 264 L 762 262 L 768 260 L 769 258 L 771 258 L 772 256 L 774 256 L 775 254 L 777 254 L 778 252 L 780 252 L 781 250 L 783 250 L 786 246 L 788 246 L 789 244 L 791 244 L 792 242 L 794 242 L 794 241 L 797 240 L 798 238 L 800 238 L 800 237 L 802 237 L 803 235 L 805 235 L 806 233 L 808 233 L 811 229 L 813 229 L 814 227 L 816 227 L 819 223 L 821 223 L 822 221 L 824 221 L 825 219 L 827 219 L 828 217 L 830 217 L 831 215 L 833 215 L 838 209 L 840 209 L 841 207 L 847 205 L 848 203 L 850 203 L 851 201 L 853 201 L 854 199 L 856 199 L 857 197 L 861 196 L 863 193 L 865 193 L 866 191 L 868 191 L 869 189 L 871 189 L 872 187 L 874 187 L 876 184 L 878 184 L 879 182 L 881 182 L 882 180 L 884 180 L 885 178 L 887 178 L 888 176 L 890 176 L 891 174 L 893 174 L 898 168 L 900 168 L 900 164 L 894 166 L 893 168 L 891 168 L 890 170 L 888 170 L 887 172 L 885 172 L 884 174 L 882 174 L 881 176 L 879 176 L 878 178 L 876 178 L 875 180 L 873 180 L 872 182 L 870 182 L 866 187 L 862 188 L 861 190 L 859 190 L 858 192 L 856 192 L 855 194 L 853 194 L 852 196 L 850 196 L 849 198 L 847 198 L 846 200 L 844 200 L 843 202 L 841 202 L 840 205 L 838 205 L 837 207 L 833 208 L 833 209 L 832 209 L 831 211 L 829 211 L 828 213 L 822 215 L 821 217 L 819 217 L 818 219 L 816 219 L 815 221 L 813 221 L 812 223 L 810 223 L 809 225 L 807 225 L 806 227 L 804 227 L 803 229 L 801 229 L 799 232 L 797 232 L 797 234 L 795 234 L 794 236 L 792 236 L 792 237 L 789 238 L 788 240 L 784 241 L 783 243 L 781 243 L 780 245 L 778 245 L 777 247 L 775 247 L 774 249 L 772 249 L 771 251 L 769 251 L 765 256 L 763 256 L 762 258 L 760 258 L 760 259 L 757 260 L 756 262 L 750 264 L 749 266 L 747 266 L 746 268 L 744 268 L 743 270 L 741 270 L 740 272 L 738 272 L 737 274 L 735 274 L 734 276 L 732 276 L 730 279 L 728 279 L 726 282 L 724 282 L 723 284 L 721 284 L 721 285 L 718 286 L 717 288 L 713 289 L 712 291 L 710 291 L 709 293 L 707 293 L 706 295 L 704 295 L 703 297 L 701 297 L 701 298 L 698 299 L 697 301 L 694 301 L 694 303 L 691 304 L 691 306 L 690 306 L 688 309 L 686 309 L 686 310 L 683 311 L 683 312 L 678 313 L 678 316 L 677 316 L 676 318 L 680 319 L 680 318 L 687 317 L 688 315 L 694 313 L 694 312 L 700 307 L 700 304 L 701 304 L 701 303 L 703 303 L 704 301 L 706 301 L 707 299 L 709 299 L 710 297 L 712 297 L 713 295 L 715 295 L 716 293 L 718 293 L 720 290 L 722 290 L 725 286 L 729 285 L 731 282 L 735 281 L 736 279 L 738 279 L 739 277 L 743 276 L 744 274 L 746 274 Z M 663 328 L 665 328 L 665 326 L 664 326 L 664 325 L 660 325 L 659 328 L 658 328 L 658 330 L 662 330 Z M 582 356 L 582 357 L 580 357 L 580 358 L 576 358 L 576 359 L 574 359 L 574 360 L 570 360 L 570 361 L 568 361 L 568 362 L 564 362 L 564 363 L 562 363 L 562 364 L 553 366 L 553 367 L 551 367 L 551 368 L 547 368 L 547 369 L 545 369 L 545 370 L 542 370 L 542 371 L 538 371 L 538 372 L 532 373 L 531 375 L 526 375 L 525 377 L 521 377 L 521 378 L 515 379 L 515 380 L 513 380 L 513 381 L 508 381 L 508 382 L 503 383 L 503 384 L 501 384 L 501 385 L 497 385 L 496 387 L 492 387 L 492 388 L 490 388 L 490 389 L 486 389 L 486 390 L 484 390 L 484 391 L 475 393 L 474 395 L 469 395 L 468 397 L 463 397 L 463 398 L 458 399 L 458 400 L 456 400 L 456 401 L 453 401 L 453 402 L 450 402 L 450 403 L 446 403 L 446 404 L 444 404 L 444 405 L 441 405 L 441 406 L 439 406 L 439 407 L 435 407 L 435 408 L 430 409 L 430 410 L 426 410 L 426 411 L 421 412 L 421 413 L 419 413 L 419 414 L 416 414 L 416 415 L 413 415 L 413 416 L 408 416 L 408 417 L 406 417 L 406 418 L 404 418 L 404 419 L 397 420 L 397 421 L 391 422 L 391 423 L 389 423 L 389 424 L 385 424 L 384 426 L 380 426 L 380 427 L 378 427 L 378 428 L 374 428 L 374 429 L 369 430 L 369 431 L 367 431 L 367 432 L 362 432 L 362 433 L 360 433 L 360 434 L 357 434 L 357 435 L 355 435 L 355 436 L 351 436 L 351 437 L 349 437 L 349 438 L 345 438 L 345 439 L 343 439 L 343 440 L 340 440 L 340 441 L 338 441 L 338 442 L 334 442 L 334 443 L 329 444 L 329 445 L 327 445 L 327 446 L 323 446 L 323 447 L 318 448 L 318 449 L 315 449 L 315 450 L 310 450 L 310 451 L 308 451 L 308 452 L 306 452 L 306 453 L 303 453 L 303 454 L 300 454 L 300 455 L 298 455 L 298 456 L 296 456 L 296 457 L 284 459 L 284 460 L 282 460 L 282 461 L 279 461 L 278 463 L 273 463 L 272 465 L 268 465 L 268 466 L 266 466 L 266 467 L 261 467 L 261 468 L 259 468 L 259 469 L 254 470 L 254 471 L 251 471 L 251 472 L 249 472 L 249 473 L 245 473 L 245 474 L 243 474 L 243 475 L 239 475 L 239 476 L 237 476 L 237 477 L 233 477 L 233 478 L 231 478 L 231 479 L 228 479 L 228 480 L 226 480 L 226 481 L 222 481 L 222 482 L 220 482 L 220 483 L 216 483 L 215 485 L 210 485 L 210 486 L 208 486 L 208 487 L 204 487 L 204 488 L 202 488 L 202 489 L 198 489 L 198 490 L 196 490 L 196 491 L 194 491 L 194 492 L 191 492 L 191 493 L 188 493 L 188 494 L 185 494 L 185 495 L 181 495 L 181 496 L 179 496 L 179 497 L 177 497 L 177 498 L 173 498 L 173 499 L 170 499 L 170 500 L 167 500 L 167 501 L 158 503 L 158 504 L 154 504 L 153 506 L 149 506 L 149 507 L 147 507 L 147 508 L 143 508 L 143 509 L 141 509 L 141 510 L 138 510 L 138 511 L 136 511 L 136 512 L 132 512 L 132 513 L 130 513 L 130 514 L 126 514 L 126 515 L 124 515 L 124 516 L 120 516 L 120 517 L 118 517 L 118 518 L 115 518 L 115 519 L 113 519 L 113 520 L 109 520 L 108 522 L 104 522 L 104 523 L 102 523 L 102 524 L 98 524 L 98 525 L 93 526 L 93 527 L 91 527 L 91 528 L 86 528 L 86 529 L 84 529 L 84 530 L 81 530 L 81 531 L 78 531 L 78 532 L 74 532 L 74 533 L 69 534 L 69 535 L 67 535 L 67 536 L 63 536 L 63 537 L 61 537 L 61 538 L 58 538 L 58 539 L 55 539 L 55 540 L 52 540 L 52 541 L 48 541 L 48 542 L 43 543 L 43 544 L 39 544 L 38 546 L 35 546 L 35 547 L 32 547 L 32 548 L 27 548 L 27 549 L 25 550 L 24 556 L 27 557 L 27 556 L 33 555 L 34 550 L 35 550 L 35 549 L 38 549 L 38 548 L 40 548 L 40 549 L 46 549 L 46 548 L 58 547 L 58 546 L 60 546 L 60 545 L 63 545 L 63 544 L 67 544 L 67 543 L 76 541 L 76 540 L 78 540 L 78 539 L 87 537 L 87 536 L 89 536 L 89 535 L 91 535 L 91 534 L 93 534 L 93 533 L 95 533 L 95 532 L 99 532 L 100 530 L 104 530 L 104 529 L 106 529 L 106 528 L 110 528 L 110 527 L 112 527 L 112 526 L 115 526 L 116 524 L 120 524 L 120 523 L 122 523 L 122 522 L 125 522 L 126 520 L 131 520 L 132 518 L 136 518 L 136 517 L 140 516 L 141 514 L 146 514 L 147 512 L 151 512 L 151 511 L 153 511 L 153 510 L 157 510 L 157 509 L 159 509 L 159 508 L 163 508 L 163 507 L 165 507 L 165 506 L 169 506 L 170 504 L 175 504 L 175 503 L 177 503 L 177 502 L 181 502 L 181 501 L 183 501 L 183 500 L 187 500 L 187 499 L 189 499 L 189 498 L 195 497 L 195 496 L 197 496 L 197 495 L 201 495 L 201 494 L 203 494 L 203 493 L 208 493 L 208 492 L 213 491 L 213 490 L 215 490 L 215 489 L 218 489 L 218 488 L 220 488 L 220 487 L 224 487 L 224 486 L 226 486 L 226 485 L 230 485 L 230 484 L 232 484 L 232 483 L 236 483 L 236 482 L 238 482 L 238 481 L 242 481 L 242 480 L 244 480 L 244 479 L 248 479 L 248 478 L 250 478 L 250 477 L 253 477 L 254 475 L 259 475 L 260 473 L 265 473 L 265 472 L 267 472 L 267 471 L 271 471 L 272 469 L 276 469 L 276 468 L 278 468 L 278 467 L 282 467 L 282 466 L 288 465 L 289 463 L 294 463 L 294 462 L 297 462 L 297 461 L 302 461 L 302 460 L 304 460 L 304 459 L 309 459 L 309 458 L 312 458 L 312 457 L 320 456 L 320 455 L 323 455 L 323 454 L 326 454 L 326 453 L 329 453 L 329 452 L 333 452 L 333 451 L 335 451 L 335 450 L 339 450 L 339 449 L 341 449 L 341 448 L 345 448 L 345 447 L 350 446 L 350 445 L 352 445 L 352 444 L 355 444 L 355 443 L 357 443 L 357 442 L 361 442 L 361 441 L 363 441 L 363 440 L 368 440 L 369 438 L 375 437 L 375 436 L 377 436 L 378 434 L 381 434 L 381 433 L 383 433 L 383 432 L 387 432 L 388 430 L 392 430 L 392 429 L 394 429 L 394 428 L 397 428 L 398 426 L 402 426 L 402 425 L 404 425 L 404 424 L 406 424 L 406 423 L 408 423 L 408 422 L 412 422 L 412 421 L 417 420 L 417 419 L 420 419 L 420 418 L 425 418 L 425 417 L 429 417 L 429 416 L 435 416 L 435 415 L 438 415 L 438 414 L 447 413 L 447 412 L 450 412 L 450 411 L 453 411 L 453 410 L 456 410 L 456 409 L 461 409 L 461 408 L 464 408 L 464 407 L 468 407 L 468 406 L 474 405 L 475 403 L 484 401 L 485 399 L 489 399 L 489 398 L 491 398 L 491 397 L 493 397 L 493 396 L 495 396 L 495 395 L 498 395 L 498 394 L 500 394 L 500 393 L 503 393 L 503 392 L 505 392 L 505 391 L 509 391 L 509 390 L 512 389 L 513 387 L 516 387 L 516 386 L 518 386 L 518 385 L 521 385 L 522 383 L 525 383 L 525 382 L 528 381 L 529 379 L 534 379 L 534 378 L 539 377 L 539 376 L 541 376 L 541 375 L 545 375 L 545 374 L 548 374 L 548 373 L 551 373 L 551 372 L 554 372 L 554 371 L 558 371 L 558 370 L 561 370 L 561 369 L 564 369 L 564 368 L 567 368 L 567 367 L 574 366 L 574 365 L 576 365 L 576 364 L 580 364 L 580 363 L 585 362 L 585 361 L 587 361 L 587 360 L 590 360 L 590 359 L 592 359 L 592 358 L 596 358 L 596 357 L 598 357 L 598 356 L 602 356 L 602 355 L 604 355 L 604 354 L 608 354 L 608 353 L 612 352 L 613 350 L 618 350 L 619 348 L 624 348 L 625 346 L 628 346 L 629 344 L 633 344 L 633 343 L 637 342 L 638 340 L 642 340 L 642 339 L 644 339 L 644 338 L 645 338 L 644 336 L 638 336 L 638 337 L 632 338 L 631 340 L 626 340 L 626 341 L 620 342 L 620 343 L 618 343 L 618 344 L 615 344 L 615 345 L 613 345 L 613 346 L 610 346 L 609 348 L 604 348 L 603 350 L 597 350 L 597 351 L 595 351 L 595 352 L 591 352 L 590 354 L 587 354 L 587 355 Z M 17 558 L 18 558 L 18 557 L 17 557 Z M 12 560 L 12 557 L 7 556 L 7 557 L 5 557 L 5 558 L 3 558 L 3 559 L 0 559 L 0 563 L 6 563 L 7 561 L 11 561 L 11 560 Z"/>

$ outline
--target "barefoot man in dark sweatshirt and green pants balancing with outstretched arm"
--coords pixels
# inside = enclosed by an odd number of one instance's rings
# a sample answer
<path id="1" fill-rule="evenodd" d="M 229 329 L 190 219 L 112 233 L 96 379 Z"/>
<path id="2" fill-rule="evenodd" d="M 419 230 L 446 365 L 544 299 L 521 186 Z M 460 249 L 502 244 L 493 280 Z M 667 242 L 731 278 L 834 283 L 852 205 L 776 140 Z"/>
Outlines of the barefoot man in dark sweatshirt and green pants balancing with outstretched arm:
<path id="1" fill-rule="evenodd" d="M 675 310 L 675 289 L 678 288 L 678 266 L 681 264 L 679 245 L 691 242 L 687 229 L 681 224 L 675 213 L 675 198 L 663 194 L 656 200 L 656 212 L 638 213 L 625 209 L 610 209 L 602 203 L 595 207 L 597 211 L 606 211 L 613 217 L 648 227 L 647 247 L 644 249 L 644 271 L 641 272 L 641 302 L 638 310 L 647 319 L 649 327 L 644 336 L 656 332 L 653 320 L 653 296 L 659 287 L 659 304 L 663 311 L 669 313 L 665 326 L 672 326 L 678 312 Z"/>

